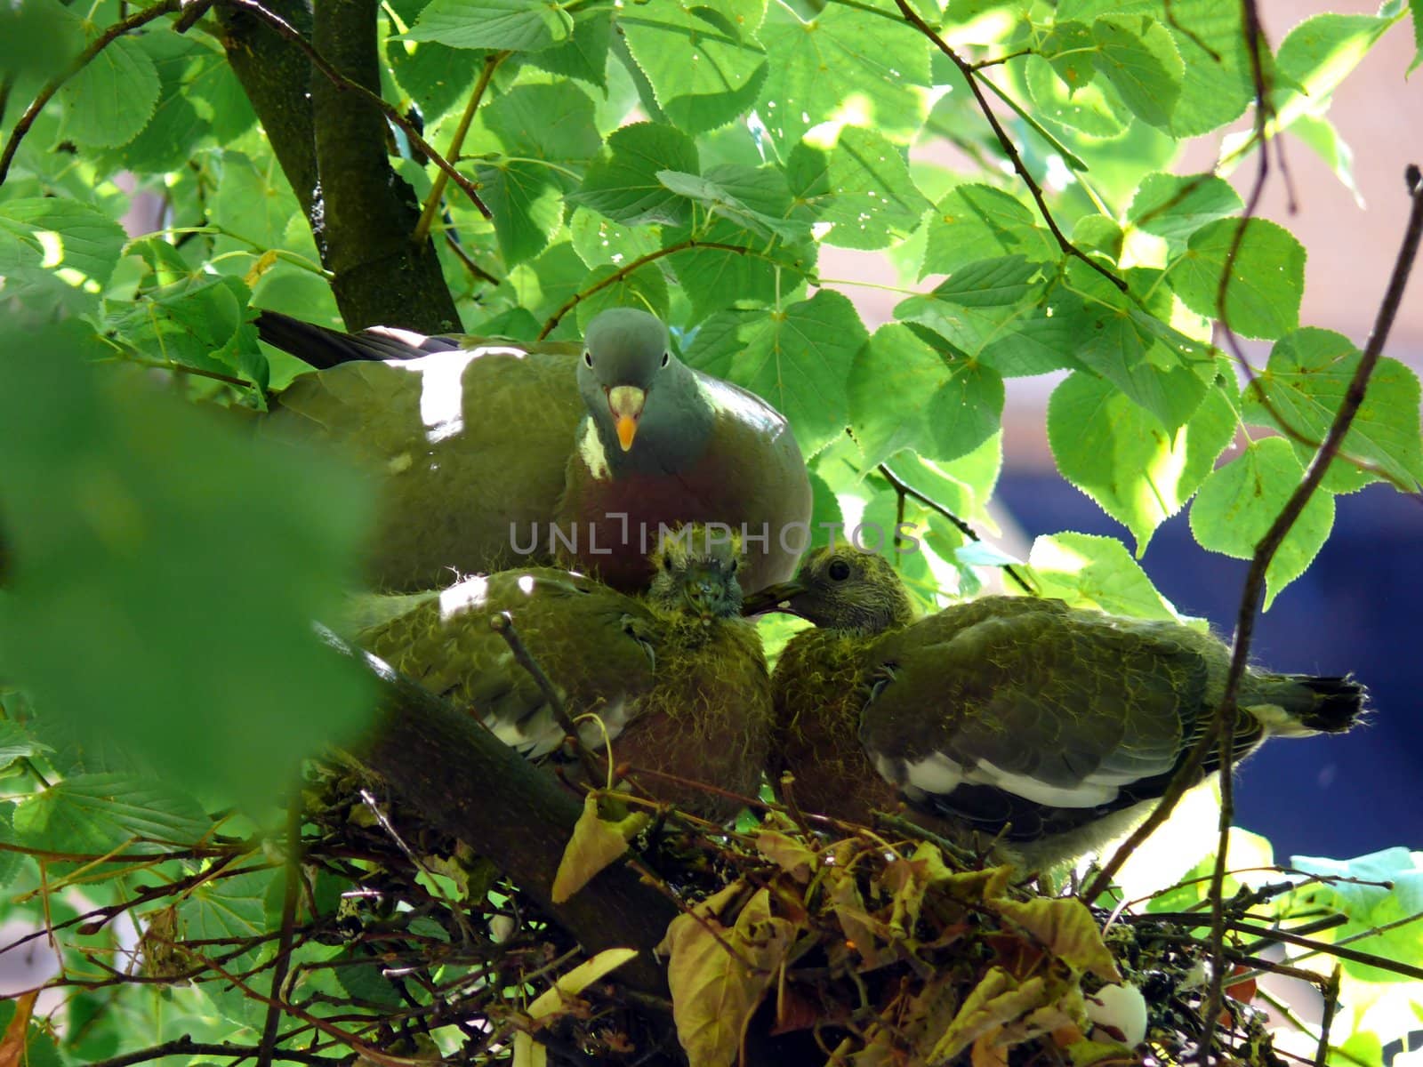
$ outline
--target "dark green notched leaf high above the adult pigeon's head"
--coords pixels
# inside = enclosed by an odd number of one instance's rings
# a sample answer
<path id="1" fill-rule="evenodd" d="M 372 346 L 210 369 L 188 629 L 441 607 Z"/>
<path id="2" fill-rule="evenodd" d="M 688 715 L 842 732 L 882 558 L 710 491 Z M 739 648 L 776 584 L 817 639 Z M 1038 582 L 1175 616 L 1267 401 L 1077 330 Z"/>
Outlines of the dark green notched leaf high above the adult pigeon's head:
<path id="1" fill-rule="evenodd" d="M 676 226 L 690 218 L 690 206 L 657 179 L 659 171 L 700 174 L 692 138 L 656 122 L 623 127 L 608 138 L 606 154 L 589 165 L 583 184 L 568 199 L 613 222 Z"/>

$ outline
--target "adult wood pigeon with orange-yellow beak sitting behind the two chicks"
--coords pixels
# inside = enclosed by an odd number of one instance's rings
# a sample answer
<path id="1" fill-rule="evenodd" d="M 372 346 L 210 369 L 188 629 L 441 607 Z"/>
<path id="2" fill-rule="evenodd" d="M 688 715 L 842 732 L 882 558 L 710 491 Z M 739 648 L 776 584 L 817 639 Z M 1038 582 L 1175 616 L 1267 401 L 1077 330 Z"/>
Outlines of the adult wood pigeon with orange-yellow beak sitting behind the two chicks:
<path id="1" fill-rule="evenodd" d="M 336 441 L 380 477 L 380 589 L 558 563 L 636 592 L 660 526 L 693 521 L 746 528 L 748 592 L 795 569 L 811 489 L 790 425 L 684 366 L 646 312 L 603 312 L 582 346 L 344 334 L 273 312 L 258 327 L 326 367 L 280 394 L 270 428 Z"/>

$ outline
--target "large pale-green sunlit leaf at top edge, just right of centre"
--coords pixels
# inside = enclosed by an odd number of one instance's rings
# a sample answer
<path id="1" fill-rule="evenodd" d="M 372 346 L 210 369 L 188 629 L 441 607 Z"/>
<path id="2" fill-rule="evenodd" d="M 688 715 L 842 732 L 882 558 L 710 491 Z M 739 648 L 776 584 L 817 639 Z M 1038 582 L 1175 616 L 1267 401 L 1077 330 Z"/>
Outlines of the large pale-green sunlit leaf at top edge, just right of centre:
<path id="1" fill-rule="evenodd" d="M 842 121 L 872 127 L 895 144 L 914 138 L 926 112 L 915 87 L 929 84 L 929 43 L 905 33 L 892 6 L 882 13 L 827 4 L 803 21 L 771 0 L 761 40 L 776 63 L 756 112 L 777 144 L 795 145 L 842 108 Z"/>

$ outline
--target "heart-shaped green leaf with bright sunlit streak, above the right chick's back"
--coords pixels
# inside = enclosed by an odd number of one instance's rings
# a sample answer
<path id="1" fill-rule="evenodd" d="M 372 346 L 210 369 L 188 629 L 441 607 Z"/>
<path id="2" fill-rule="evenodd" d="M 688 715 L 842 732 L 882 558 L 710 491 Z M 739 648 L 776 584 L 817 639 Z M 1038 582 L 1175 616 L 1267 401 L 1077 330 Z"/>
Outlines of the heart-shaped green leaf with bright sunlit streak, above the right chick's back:
<path id="1" fill-rule="evenodd" d="M 1131 531 L 1137 559 L 1153 531 L 1205 481 L 1234 432 L 1235 411 L 1218 388 L 1175 432 L 1091 374 L 1072 374 L 1047 404 L 1057 469 Z"/>

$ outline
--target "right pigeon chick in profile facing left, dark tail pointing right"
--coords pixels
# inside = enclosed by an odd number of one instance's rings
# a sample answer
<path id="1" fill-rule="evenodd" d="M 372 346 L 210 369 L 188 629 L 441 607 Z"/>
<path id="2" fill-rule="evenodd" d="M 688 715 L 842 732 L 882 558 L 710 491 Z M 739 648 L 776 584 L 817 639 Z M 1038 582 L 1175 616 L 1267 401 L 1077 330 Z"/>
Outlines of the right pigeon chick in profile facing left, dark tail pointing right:
<path id="1" fill-rule="evenodd" d="M 1175 622 L 985 596 L 915 620 L 882 556 L 817 549 L 748 610 L 780 605 L 797 635 L 773 677 L 773 758 L 797 804 L 865 822 L 899 798 L 961 841 L 999 838 L 1027 869 L 1099 848 L 1161 797 L 1221 700 L 1229 653 Z M 1248 669 L 1234 750 L 1340 733 L 1365 689 Z M 1218 770 L 1207 760 L 1202 777 Z M 773 781 L 778 774 L 773 774 Z"/>

